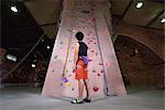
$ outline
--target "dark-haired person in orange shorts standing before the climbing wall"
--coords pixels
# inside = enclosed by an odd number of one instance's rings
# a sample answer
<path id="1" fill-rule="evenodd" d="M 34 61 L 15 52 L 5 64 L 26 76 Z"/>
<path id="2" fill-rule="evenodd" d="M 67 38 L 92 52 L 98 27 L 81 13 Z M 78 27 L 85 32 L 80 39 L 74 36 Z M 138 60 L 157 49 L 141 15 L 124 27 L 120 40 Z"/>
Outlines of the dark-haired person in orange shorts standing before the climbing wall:
<path id="1" fill-rule="evenodd" d="M 72 103 L 82 103 L 90 102 L 90 87 L 89 87 L 89 79 L 88 79 L 88 57 L 87 51 L 88 46 L 86 43 L 82 42 L 84 34 L 82 32 L 76 33 L 77 43 L 75 44 L 75 56 L 74 56 L 74 64 L 75 64 L 75 79 L 78 80 L 78 98 L 73 100 Z M 84 86 L 86 85 L 87 97 L 82 99 Z"/>

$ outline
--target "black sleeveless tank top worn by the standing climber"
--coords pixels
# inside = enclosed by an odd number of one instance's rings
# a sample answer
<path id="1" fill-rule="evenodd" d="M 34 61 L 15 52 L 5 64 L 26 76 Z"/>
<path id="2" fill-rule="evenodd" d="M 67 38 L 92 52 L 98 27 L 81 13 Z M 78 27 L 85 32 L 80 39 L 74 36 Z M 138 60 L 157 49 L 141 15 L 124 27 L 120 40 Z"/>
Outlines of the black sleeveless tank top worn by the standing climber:
<path id="1" fill-rule="evenodd" d="M 78 43 L 79 43 L 78 56 L 87 56 L 88 46 L 84 42 L 78 42 Z"/>

